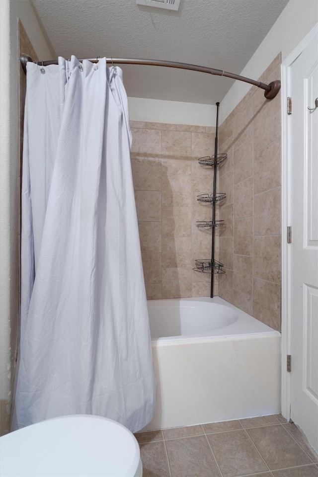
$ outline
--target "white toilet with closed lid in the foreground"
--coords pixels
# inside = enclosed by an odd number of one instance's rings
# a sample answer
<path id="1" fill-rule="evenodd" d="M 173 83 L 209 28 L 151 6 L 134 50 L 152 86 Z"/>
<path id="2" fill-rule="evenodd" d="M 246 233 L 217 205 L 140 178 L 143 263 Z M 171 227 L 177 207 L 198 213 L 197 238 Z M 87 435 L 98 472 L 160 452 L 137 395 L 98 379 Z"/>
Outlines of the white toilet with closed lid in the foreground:
<path id="1" fill-rule="evenodd" d="M 1 477 L 142 477 L 135 436 L 105 417 L 55 417 L 0 438 Z"/>

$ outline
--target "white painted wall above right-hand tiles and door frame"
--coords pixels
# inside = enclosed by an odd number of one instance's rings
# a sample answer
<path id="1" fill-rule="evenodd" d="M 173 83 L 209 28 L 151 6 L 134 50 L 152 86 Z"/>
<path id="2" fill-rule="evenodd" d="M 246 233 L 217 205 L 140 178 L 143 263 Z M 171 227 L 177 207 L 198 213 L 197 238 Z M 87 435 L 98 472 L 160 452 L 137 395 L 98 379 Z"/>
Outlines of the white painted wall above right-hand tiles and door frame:
<path id="1" fill-rule="evenodd" d="M 279 52 L 282 52 L 284 61 L 317 22 L 317 0 L 290 0 L 240 75 L 258 79 Z M 220 124 L 249 88 L 247 83 L 234 83 L 220 104 Z"/>

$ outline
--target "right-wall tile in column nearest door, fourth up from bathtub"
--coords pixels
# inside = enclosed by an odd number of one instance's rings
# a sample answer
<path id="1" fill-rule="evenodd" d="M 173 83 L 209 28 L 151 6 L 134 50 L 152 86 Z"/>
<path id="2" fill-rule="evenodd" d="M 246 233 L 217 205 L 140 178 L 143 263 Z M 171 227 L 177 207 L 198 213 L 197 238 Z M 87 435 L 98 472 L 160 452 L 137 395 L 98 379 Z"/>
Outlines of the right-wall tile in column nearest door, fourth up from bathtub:
<path id="1" fill-rule="evenodd" d="M 280 138 L 254 157 L 254 194 L 280 186 Z"/>

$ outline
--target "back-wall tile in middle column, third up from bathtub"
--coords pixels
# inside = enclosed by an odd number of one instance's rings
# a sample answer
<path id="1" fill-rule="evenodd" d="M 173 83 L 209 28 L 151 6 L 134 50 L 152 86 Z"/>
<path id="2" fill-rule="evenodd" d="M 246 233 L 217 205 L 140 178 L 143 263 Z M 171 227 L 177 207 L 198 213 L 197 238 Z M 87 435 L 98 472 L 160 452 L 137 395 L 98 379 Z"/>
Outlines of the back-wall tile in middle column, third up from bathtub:
<path id="1" fill-rule="evenodd" d="M 162 207 L 162 237 L 191 237 L 191 207 Z"/>

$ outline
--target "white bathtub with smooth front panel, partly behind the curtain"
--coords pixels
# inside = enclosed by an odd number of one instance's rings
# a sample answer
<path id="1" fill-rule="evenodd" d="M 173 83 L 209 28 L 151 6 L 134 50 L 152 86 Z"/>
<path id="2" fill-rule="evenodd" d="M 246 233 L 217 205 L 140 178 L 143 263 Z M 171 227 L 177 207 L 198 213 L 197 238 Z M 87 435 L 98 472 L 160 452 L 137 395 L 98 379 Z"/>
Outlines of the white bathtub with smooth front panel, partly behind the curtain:
<path id="1" fill-rule="evenodd" d="M 280 412 L 280 333 L 219 297 L 148 302 L 157 412 L 144 430 Z"/>

